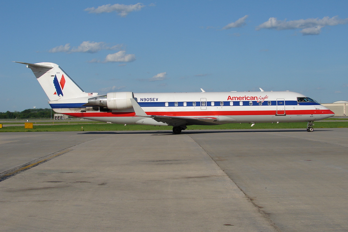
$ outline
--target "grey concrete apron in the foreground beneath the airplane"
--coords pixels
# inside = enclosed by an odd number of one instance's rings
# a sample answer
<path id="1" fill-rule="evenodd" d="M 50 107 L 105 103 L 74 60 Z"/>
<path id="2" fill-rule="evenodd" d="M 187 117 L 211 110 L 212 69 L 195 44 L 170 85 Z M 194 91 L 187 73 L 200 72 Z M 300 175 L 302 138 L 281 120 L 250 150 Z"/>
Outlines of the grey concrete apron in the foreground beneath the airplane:
<path id="1" fill-rule="evenodd" d="M 347 138 L 348 128 L 0 133 L 0 228 L 348 231 Z"/>

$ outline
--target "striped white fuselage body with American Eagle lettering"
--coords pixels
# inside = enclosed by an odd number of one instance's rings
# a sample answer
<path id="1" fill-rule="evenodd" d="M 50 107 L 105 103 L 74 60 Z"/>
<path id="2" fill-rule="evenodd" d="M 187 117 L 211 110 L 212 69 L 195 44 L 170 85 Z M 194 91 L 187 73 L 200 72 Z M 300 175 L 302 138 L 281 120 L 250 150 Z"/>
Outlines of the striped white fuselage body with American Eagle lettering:
<path id="1" fill-rule="evenodd" d="M 239 122 L 303 122 L 322 120 L 334 115 L 332 111 L 317 102 L 299 102 L 299 97 L 305 96 L 290 91 L 134 93 L 134 98 L 148 115 L 216 118 L 214 121 L 193 123 L 196 125 Z M 51 104 L 51 102 L 50 104 L 58 113 L 95 121 L 170 125 L 152 118 L 135 116 L 133 108 L 103 112 L 98 107 L 81 107 L 86 102 L 87 98 L 85 101 L 81 101 L 80 105 Z"/>

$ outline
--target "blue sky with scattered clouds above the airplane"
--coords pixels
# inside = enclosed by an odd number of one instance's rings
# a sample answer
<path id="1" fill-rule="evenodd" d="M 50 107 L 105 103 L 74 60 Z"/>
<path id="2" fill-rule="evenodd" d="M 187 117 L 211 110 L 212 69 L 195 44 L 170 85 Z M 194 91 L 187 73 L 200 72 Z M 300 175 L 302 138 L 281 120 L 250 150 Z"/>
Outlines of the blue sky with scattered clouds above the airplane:
<path id="1" fill-rule="evenodd" d="M 290 90 L 348 100 L 348 1 L 6 1 L 0 112 L 49 108 L 25 65 L 86 92 Z"/>

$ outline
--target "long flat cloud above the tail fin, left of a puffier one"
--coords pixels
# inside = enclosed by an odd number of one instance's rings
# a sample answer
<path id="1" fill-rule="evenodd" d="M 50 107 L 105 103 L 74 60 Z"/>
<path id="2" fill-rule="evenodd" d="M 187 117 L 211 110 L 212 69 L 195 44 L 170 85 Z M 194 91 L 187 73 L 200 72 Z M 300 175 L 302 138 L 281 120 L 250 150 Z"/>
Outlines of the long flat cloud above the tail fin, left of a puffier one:
<path id="1" fill-rule="evenodd" d="M 66 52 L 66 53 L 97 53 L 100 50 L 117 50 L 122 48 L 122 44 L 109 47 L 105 42 L 83 41 L 78 47 L 70 47 L 70 43 L 61 45 L 49 50 L 50 53 Z"/>

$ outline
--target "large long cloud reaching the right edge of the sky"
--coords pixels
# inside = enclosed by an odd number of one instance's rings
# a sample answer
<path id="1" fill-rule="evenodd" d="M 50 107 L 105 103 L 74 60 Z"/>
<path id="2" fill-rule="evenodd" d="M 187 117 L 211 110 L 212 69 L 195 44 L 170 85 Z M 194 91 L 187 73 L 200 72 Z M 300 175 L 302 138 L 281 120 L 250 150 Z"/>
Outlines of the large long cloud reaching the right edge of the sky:
<path id="1" fill-rule="evenodd" d="M 324 26 L 335 26 L 338 24 L 347 24 L 348 18 L 339 19 L 338 16 L 330 18 L 326 16 L 322 19 L 319 18 L 308 18 L 308 19 L 299 19 L 293 21 L 284 21 L 277 20 L 277 18 L 271 17 L 267 22 L 260 24 L 256 27 L 256 30 L 261 29 L 276 29 L 276 30 L 293 30 L 293 29 L 302 29 L 302 35 L 318 35 L 321 32 L 321 29 Z"/>

